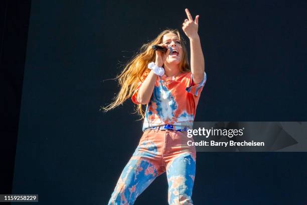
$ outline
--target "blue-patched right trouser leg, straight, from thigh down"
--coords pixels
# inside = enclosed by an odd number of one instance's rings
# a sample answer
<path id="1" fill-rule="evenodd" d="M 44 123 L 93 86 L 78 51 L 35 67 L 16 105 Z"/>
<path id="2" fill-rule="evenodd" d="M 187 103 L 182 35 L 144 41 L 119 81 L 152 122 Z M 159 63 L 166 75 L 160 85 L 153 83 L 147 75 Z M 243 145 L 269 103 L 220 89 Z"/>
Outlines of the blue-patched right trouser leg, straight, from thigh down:
<path id="1" fill-rule="evenodd" d="M 167 165 L 170 205 L 193 205 L 192 190 L 194 185 L 196 162 L 190 152 L 180 153 Z"/>

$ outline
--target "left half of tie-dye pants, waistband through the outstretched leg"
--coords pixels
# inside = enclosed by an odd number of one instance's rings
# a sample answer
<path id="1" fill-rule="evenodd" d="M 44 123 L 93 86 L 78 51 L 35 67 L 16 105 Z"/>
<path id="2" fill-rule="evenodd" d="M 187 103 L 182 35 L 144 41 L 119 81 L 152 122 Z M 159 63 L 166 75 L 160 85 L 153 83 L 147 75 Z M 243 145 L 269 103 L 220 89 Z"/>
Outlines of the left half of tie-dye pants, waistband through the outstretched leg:
<path id="1" fill-rule="evenodd" d="M 145 131 L 123 169 L 109 200 L 110 204 L 133 204 L 155 178 L 165 172 L 161 165 L 164 134 Z"/>

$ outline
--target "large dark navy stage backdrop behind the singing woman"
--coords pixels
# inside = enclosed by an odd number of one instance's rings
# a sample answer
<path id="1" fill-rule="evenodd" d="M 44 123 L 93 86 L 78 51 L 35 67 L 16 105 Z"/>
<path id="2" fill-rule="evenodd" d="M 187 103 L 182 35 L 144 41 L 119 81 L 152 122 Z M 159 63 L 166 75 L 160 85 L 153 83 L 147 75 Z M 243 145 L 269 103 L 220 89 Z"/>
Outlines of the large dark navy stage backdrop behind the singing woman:
<path id="1" fill-rule="evenodd" d="M 32 1 L 13 193 L 106 204 L 142 134 L 114 78 L 143 43 L 199 19 L 195 121 L 307 121 L 306 1 Z M 184 33 L 182 32 L 184 35 Z M 186 38 L 186 40 L 188 40 Z M 189 47 L 189 43 L 188 43 Z M 305 204 L 306 153 L 197 153 L 195 204 Z M 167 204 L 166 175 L 135 204 Z"/>

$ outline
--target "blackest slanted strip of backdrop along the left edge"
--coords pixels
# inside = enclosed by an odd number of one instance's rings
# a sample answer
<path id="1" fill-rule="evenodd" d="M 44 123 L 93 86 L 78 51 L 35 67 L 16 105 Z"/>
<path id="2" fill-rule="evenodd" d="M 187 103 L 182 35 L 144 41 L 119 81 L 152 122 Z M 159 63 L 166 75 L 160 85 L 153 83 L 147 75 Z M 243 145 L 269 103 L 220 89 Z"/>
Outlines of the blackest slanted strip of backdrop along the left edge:
<path id="1" fill-rule="evenodd" d="M 30 8 L 30 0 L 0 2 L 1 194 L 12 192 Z"/>

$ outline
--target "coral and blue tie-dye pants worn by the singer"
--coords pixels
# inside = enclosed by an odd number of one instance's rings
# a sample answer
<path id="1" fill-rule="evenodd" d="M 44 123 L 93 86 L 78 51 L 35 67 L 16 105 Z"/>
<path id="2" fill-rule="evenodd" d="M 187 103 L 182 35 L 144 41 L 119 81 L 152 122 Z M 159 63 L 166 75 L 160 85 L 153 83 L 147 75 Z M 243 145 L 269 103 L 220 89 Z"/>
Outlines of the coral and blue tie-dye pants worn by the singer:
<path id="1" fill-rule="evenodd" d="M 195 146 L 187 145 L 189 140 L 193 138 L 188 138 L 187 132 L 145 130 L 108 204 L 133 204 L 136 197 L 165 171 L 169 204 L 193 204 L 196 150 Z"/>

